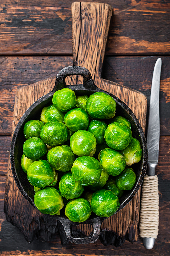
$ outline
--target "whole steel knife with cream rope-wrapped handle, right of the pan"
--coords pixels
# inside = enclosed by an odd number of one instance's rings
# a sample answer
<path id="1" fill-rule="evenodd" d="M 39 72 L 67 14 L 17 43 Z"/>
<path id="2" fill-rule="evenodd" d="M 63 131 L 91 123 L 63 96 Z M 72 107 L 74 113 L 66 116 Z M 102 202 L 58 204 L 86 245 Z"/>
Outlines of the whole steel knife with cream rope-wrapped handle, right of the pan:
<path id="1" fill-rule="evenodd" d="M 157 59 L 153 71 L 149 120 L 147 131 L 148 168 L 143 181 L 141 210 L 140 210 L 140 236 L 146 249 L 152 249 L 158 235 L 159 225 L 159 195 L 158 177 L 155 168 L 158 164 L 160 118 L 159 118 L 159 91 L 162 59 Z"/>

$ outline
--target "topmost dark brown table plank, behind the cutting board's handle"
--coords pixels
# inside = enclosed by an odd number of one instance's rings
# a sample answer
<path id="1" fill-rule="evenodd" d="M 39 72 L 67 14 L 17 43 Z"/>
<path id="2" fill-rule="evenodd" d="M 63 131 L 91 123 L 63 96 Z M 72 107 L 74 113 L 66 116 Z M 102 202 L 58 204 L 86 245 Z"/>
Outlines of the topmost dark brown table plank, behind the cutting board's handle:
<path id="1" fill-rule="evenodd" d="M 71 55 L 72 2 L 1 1 L 0 54 Z M 169 54 L 169 1 L 108 0 L 107 3 L 114 8 L 107 55 Z"/>

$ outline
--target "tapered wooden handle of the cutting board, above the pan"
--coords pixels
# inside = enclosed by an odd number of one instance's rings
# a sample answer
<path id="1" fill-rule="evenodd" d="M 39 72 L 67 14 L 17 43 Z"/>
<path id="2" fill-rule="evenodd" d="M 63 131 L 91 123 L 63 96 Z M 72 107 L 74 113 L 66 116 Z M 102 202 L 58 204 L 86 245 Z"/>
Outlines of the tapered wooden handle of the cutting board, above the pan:
<path id="1" fill-rule="evenodd" d="M 105 3 L 72 3 L 73 65 L 100 76 L 113 7 Z"/>

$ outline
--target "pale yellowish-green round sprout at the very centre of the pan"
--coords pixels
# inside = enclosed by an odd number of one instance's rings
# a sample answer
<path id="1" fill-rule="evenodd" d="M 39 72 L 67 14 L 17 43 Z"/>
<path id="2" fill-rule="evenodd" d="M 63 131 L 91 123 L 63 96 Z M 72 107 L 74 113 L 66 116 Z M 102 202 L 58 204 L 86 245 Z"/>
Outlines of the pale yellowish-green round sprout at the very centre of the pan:
<path id="1" fill-rule="evenodd" d="M 71 136 L 70 147 L 75 155 L 93 156 L 96 150 L 96 139 L 92 133 L 79 130 Z"/>

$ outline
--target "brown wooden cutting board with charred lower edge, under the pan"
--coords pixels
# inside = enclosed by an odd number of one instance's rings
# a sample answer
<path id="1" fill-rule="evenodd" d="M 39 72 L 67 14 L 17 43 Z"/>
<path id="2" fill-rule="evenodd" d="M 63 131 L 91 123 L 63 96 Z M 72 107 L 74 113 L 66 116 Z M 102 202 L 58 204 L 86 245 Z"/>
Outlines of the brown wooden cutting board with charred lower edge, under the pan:
<path id="1" fill-rule="evenodd" d="M 102 3 L 74 2 L 72 4 L 73 65 L 86 67 L 95 84 L 119 97 L 134 112 L 143 130 L 145 130 L 147 99 L 142 93 L 124 87 L 115 82 L 102 79 L 101 69 L 105 54 L 107 36 L 111 23 L 112 6 Z M 76 84 L 79 78 L 68 78 L 67 83 Z M 55 77 L 35 84 L 21 87 L 16 92 L 12 134 L 21 116 L 41 96 L 50 92 L 55 84 Z M 120 212 L 106 219 L 101 226 L 101 241 L 105 245 L 121 245 L 125 239 L 137 240 L 140 207 L 140 190 L 130 203 Z M 7 220 L 19 227 L 27 241 L 32 241 L 36 233 L 49 241 L 51 234 L 63 234 L 61 225 L 50 217 L 39 213 L 19 192 L 10 165 L 8 168 L 5 212 Z M 85 234 L 91 232 L 88 224 L 78 225 L 75 230 Z M 108 233 L 110 232 L 110 233 Z M 109 236 L 108 236 L 109 235 Z M 62 235 L 62 239 L 63 239 Z M 63 244 L 67 242 L 62 241 Z"/>

